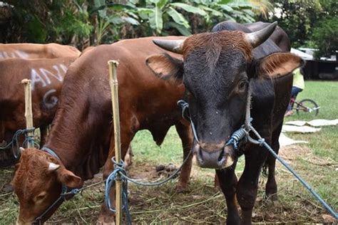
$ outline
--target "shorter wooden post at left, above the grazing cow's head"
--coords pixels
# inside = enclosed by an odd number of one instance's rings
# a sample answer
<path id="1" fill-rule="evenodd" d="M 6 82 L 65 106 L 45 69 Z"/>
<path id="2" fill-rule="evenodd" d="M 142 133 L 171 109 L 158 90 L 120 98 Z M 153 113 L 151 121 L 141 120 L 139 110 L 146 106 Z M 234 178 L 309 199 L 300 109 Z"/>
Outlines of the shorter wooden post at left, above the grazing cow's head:
<path id="1" fill-rule="evenodd" d="M 32 129 L 33 126 L 33 112 L 31 108 L 31 80 L 24 79 L 21 80 L 21 83 L 24 84 L 25 89 L 25 117 L 26 117 L 26 129 Z M 31 130 L 27 133 L 28 137 L 34 137 L 34 130 Z M 27 142 L 27 147 L 34 147 L 34 141 L 29 140 Z"/>

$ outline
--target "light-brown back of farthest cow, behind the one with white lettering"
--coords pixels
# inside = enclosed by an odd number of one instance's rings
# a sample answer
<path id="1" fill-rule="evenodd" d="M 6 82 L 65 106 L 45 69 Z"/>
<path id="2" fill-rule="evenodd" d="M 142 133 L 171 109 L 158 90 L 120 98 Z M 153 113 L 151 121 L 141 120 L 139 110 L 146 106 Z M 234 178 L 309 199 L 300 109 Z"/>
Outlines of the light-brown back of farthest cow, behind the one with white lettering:
<path id="1" fill-rule="evenodd" d="M 5 58 L 66 58 L 78 57 L 81 51 L 58 43 L 1 43 L 0 59 Z"/>

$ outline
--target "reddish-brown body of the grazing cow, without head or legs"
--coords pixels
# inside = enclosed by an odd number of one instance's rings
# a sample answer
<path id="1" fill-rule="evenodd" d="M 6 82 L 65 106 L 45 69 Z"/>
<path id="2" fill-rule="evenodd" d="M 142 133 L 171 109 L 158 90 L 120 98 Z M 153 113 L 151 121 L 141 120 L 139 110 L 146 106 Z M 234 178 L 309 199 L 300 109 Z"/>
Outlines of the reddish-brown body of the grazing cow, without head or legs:
<path id="1" fill-rule="evenodd" d="M 78 58 L 66 74 L 46 146 L 58 152 L 63 164 L 83 179 L 98 172 L 109 150 L 112 119 L 107 61 L 119 62 L 121 133 L 133 136 L 147 129 L 160 145 L 170 126 L 180 120 L 176 102 L 183 95 L 183 85 L 156 78 L 145 64 L 148 56 L 165 52 L 153 45 L 152 39 L 98 46 Z"/>

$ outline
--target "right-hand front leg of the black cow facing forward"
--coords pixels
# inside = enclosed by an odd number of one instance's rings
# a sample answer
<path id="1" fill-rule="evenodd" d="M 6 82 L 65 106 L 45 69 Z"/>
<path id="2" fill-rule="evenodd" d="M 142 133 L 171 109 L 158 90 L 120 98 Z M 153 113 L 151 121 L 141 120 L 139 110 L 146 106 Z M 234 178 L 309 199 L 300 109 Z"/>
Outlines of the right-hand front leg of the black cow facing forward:
<path id="1" fill-rule="evenodd" d="M 253 146 L 245 152 L 245 169 L 237 184 L 237 201 L 242 209 L 240 224 L 251 224 L 252 209 L 257 197 L 258 179 L 262 165 L 267 159 L 267 150 Z"/>

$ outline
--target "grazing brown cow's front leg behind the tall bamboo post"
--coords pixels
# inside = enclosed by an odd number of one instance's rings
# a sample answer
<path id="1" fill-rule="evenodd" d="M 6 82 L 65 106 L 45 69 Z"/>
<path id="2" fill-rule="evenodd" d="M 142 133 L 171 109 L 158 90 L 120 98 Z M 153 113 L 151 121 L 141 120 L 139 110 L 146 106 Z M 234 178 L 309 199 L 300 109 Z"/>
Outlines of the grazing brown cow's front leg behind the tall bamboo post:
<path id="1" fill-rule="evenodd" d="M 121 130 L 121 158 L 123 159 L 126 156 L 126 152 L 128 150 L 128 147 L 130 145 L 130 140 L 132 136 L 128 135 L 126 137 L 125 134 L 123 134 L 123 131 Z M 103 179 L 107 179 L 109 174 L 113 172 L 114 170 L 114 164 L 111 160 L 112 157 L 115 157 L 115 145 L 114 145 L 114 138 L 111 138 L 111 145 L 108 153 L 108 158 L 106 160 L 106 164 L 103 167 Z M 115 209 L 115 190 L 116 187 L 113 185 L 111 187 L 111 192 L 109 193 L 109 196 L 111 198 L 111 206 Z M 98 222 L 97 224 L 115 224 L 115 213 L 113 213 L 111 210 L 109 210 L 106 206 L 106 199 L 103 202 L 101 206 L 101 214 L 98 216 Z"/>

